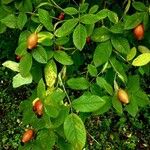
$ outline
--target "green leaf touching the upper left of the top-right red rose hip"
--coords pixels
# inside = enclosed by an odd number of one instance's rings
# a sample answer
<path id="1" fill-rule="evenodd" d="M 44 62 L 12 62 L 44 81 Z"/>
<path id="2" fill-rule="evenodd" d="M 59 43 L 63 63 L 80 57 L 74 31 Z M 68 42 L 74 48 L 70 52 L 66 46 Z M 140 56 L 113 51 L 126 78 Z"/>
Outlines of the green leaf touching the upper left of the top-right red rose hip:
<path id="1" fill-rule="evenodd" d="M 130 30 L 139 25 L 143 20 L 143 15 L 141 13 L 134 13 L 131 16 L 127 16 L 125 19 L 124 29 Z"/>

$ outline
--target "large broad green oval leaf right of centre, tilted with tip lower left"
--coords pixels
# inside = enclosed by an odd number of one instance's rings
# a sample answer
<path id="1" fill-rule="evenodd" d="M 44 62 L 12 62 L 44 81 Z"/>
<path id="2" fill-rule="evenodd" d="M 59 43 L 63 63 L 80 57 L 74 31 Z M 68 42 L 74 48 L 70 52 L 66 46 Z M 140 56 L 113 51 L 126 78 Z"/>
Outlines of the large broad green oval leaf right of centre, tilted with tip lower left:
<path id="1" fill-rule="evenodd" d="M 106 63 L 112 53 L 110 41 L 100 43 L 94 52 L 93 61 L 96 67 Z"/>

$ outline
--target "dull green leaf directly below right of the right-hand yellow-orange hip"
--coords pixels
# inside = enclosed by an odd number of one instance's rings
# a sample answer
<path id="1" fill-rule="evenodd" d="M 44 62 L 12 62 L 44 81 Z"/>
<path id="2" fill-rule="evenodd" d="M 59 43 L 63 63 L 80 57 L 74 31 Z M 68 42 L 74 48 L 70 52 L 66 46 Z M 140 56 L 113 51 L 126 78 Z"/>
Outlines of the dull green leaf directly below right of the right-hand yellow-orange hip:
<path id="1" fill-rule="evenodd" d="M 126 106 L 126 110 L 132 117 L 136 116 L 138 112 L 138 105 L 134 96 L 130 97 L 130 103 Z"/>

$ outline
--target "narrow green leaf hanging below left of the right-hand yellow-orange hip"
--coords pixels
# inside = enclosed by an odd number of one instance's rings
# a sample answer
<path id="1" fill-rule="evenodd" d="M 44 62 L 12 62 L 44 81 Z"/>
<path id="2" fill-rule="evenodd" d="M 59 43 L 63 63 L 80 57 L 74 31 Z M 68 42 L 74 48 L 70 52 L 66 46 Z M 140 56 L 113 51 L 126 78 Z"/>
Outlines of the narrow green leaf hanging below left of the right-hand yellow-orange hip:
<path id="1" fill-rule="evenodd" d="M 115 95 L 113 96 L 113 98 L 112 98 L 112 105 L 113 105 L 113 107 L 116 109 L 116 111 L 117 111 L 119 114 L 122 114 L 122 113 L 123 113 L 122 104 L 121 104 L 121 102 L 117 99 L 116 94 L 115 94 Z"/>

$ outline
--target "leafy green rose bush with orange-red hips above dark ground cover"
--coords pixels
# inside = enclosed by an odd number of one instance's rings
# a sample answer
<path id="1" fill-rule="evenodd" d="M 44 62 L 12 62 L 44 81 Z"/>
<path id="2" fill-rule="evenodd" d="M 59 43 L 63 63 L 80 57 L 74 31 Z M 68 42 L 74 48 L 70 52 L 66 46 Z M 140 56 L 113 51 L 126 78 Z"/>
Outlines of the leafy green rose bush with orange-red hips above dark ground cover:
<path id="1" fill-rule="evenodd" d="M 19 149 L 83 149 L 87 116 L 114 108 L 135 117 L 149 105 L 140 83 L 149 76 L 150 7 L 128 0 L 120 12 L 113 4 L 1 1 L 0 32 L 20 30 L 18 62 L 12 58 L 3 66 L 16 72 L 14 88 L 37 84 L 20 105 L 34 137 Z"/>

